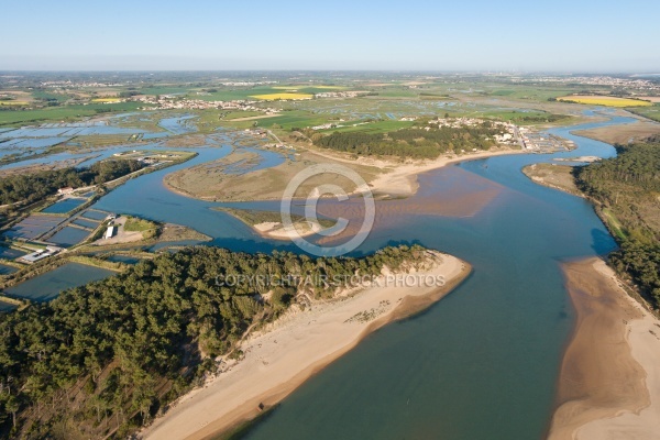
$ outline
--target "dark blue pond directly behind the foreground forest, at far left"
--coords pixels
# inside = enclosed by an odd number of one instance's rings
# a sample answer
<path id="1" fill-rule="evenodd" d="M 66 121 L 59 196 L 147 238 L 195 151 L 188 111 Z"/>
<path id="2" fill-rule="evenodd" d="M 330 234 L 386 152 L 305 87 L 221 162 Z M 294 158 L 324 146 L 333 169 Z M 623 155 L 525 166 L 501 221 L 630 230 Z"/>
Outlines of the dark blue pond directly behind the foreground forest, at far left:
<path id="1" fill-rule="evenodd" d="M 24 283 L 6 289 L 8 295 L 26 298 L 32 301 L 50 301 L 67 288 L 82 286 L 87 283 L 103 279 L 114 272 L 100 267 L 67 263 L 56 270 L 36 276 Z"/>

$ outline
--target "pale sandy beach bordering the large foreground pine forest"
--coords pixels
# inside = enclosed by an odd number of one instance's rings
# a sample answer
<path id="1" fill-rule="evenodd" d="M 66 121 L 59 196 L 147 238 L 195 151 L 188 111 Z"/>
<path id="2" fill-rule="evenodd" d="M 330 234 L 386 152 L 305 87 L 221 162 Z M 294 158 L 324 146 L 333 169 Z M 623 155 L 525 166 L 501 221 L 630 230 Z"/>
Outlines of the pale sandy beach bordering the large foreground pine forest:
<path id="1" fill-rule="evenodd" d="M 179 399 L 143 438 L 204 439 L 257 416 L 260 405 L 278 403 L 366 334 L 430 306 L 470 274 L 457 257 L 437 252 L 429 257 L 433 267 L 405 283 L 385 273 L 378 285 L 314 301 L 252 334 L 242 344 L 244 359 Z M 444 284 L 429 283 L 431 277 Z"/>

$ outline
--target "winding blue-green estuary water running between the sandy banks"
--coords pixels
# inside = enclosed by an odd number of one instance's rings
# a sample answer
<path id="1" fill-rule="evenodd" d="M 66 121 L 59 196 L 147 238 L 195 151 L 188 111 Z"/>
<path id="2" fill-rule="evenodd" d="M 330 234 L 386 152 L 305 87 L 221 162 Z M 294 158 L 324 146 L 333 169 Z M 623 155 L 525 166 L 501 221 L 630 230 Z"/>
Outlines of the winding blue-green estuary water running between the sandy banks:
<path id="1" fill-rule="evenodd" d="M 425 312 L 367 337 L 285 399 L 246 438 L 542 438 L 574 321 L 558 263 L 605 254 L 615 242 L 588 202 L 538 186 L 520 168 L 554 157 L 613 156 L 610 145 L 571 131 L 632 121 L 614 117 L 551 130 L 576 143 L 579 148 L 570 153 L 499 156 L 420 176 L 420 194 L 440 201 L 457 188 L 483 191 L 484 182 L 496 191 L 469 216 L 397 212 L 397 221 L 381 223 L 355 254 L 419 243 L 468 261 L 473 274 Z M 297 251 L 210 209 L 220 204 L 168 191 L 166 174 L 221 158 L 231 147 L 195 151 L 199 155 L 193 161 L 130 180 L 95 208 L 185 224 L 234 251 Z M 267 165 L 262 162 L 260 167 Z M 278 209 L 276 202 L 233 205 Z"/>

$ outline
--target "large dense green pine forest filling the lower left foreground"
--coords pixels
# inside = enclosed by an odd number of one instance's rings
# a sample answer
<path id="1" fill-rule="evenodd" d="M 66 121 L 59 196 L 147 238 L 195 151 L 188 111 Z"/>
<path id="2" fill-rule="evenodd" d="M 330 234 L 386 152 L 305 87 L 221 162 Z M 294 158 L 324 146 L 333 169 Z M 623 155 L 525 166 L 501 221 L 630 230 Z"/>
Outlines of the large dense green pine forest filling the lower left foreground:
<path id="1" fill-rule="evenodd" d="M 1 437 L 125 437 L 215 370 L 215 356 L 240 355 L 234 343 L 252 323 L 276 317 L 296 295 L 334 290 L 307 275 L 378 274 L 424 254 L 402 246 L 312 260 L 194 248 L 0 314 Z M 266 278 L 288 282 L 254 282 Z"/>

